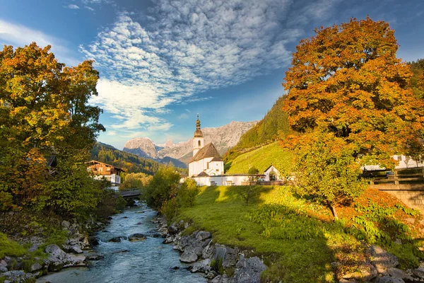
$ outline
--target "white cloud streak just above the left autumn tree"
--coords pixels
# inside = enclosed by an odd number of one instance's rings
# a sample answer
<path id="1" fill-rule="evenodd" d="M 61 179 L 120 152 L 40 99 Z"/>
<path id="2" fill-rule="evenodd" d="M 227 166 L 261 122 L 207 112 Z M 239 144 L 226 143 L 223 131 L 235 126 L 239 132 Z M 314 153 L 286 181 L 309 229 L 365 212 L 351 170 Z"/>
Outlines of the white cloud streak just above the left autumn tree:
<path id="1" fill-rule="evenodd" d="M 60 62 L 76 65 L 78 60 L 73 58 L 71 51 L 65 47 L 66 42 L 59 38 L 52 37 L 42 33 L 40 30 L 28 28 L 25 25 L 17 25 L 0 19 L 0 44 L 13 45 L 13 47 L 23 47 L 30 45 L 31 42 L 37 42 L 40 47 L 52 45 L 52 52 Z"/>

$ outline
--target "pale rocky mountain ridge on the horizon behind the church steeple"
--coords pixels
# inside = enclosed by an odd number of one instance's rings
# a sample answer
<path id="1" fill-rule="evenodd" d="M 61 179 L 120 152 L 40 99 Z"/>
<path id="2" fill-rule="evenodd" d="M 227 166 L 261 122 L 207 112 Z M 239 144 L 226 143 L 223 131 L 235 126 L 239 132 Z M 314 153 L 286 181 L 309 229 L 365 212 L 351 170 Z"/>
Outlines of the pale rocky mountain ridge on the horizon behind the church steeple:
<path id="1" fill-rule="evenodd" d="M 230 147 L 235 146 L 242 134 L 254 127 L 257 121 L 253 122 L 230 122 L 222 127 L 205 127 L 201 129 L 204 133 L 205 144 L 213 142 L 220 154 L 224 154 Z M 187 157 L 192 153 L 192 139 L 180 141 L 174 144 L 172 140 L 165 144 L 155 144 L 148 137 L 138 137 L 126 141 L 123 151 L 138 156 L 163 159 L 165 157 L 175 158 L 180 161 L 187 161 Z"/>

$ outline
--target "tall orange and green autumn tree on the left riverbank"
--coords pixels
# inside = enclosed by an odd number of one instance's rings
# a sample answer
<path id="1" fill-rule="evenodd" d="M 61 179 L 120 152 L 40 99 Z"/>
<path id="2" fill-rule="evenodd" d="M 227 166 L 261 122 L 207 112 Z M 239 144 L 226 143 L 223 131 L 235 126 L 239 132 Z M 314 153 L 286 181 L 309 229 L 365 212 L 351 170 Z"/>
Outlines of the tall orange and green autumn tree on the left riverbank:
<path id="1" fill-rule="evenodd" d="M 0 209 L 33 204 L 43 195 L 46 205 L 53 202 L 47 183 L 65 178 L 57 172 L 84 166 L 88 149 L 104 130 L 100 108 L 88 105 L 97 95 L 93 62 L 66 67 L 49 50 L 33 42 L 0 51 Z M 62 168 L 49 167 L 52 156 Z M 72 186 L 69 180 L 66 187 Z M 63 208 L 76 205 L 63 196 L 54 202 Z M 75 202 L 83 205 L 83 200 Z"/>

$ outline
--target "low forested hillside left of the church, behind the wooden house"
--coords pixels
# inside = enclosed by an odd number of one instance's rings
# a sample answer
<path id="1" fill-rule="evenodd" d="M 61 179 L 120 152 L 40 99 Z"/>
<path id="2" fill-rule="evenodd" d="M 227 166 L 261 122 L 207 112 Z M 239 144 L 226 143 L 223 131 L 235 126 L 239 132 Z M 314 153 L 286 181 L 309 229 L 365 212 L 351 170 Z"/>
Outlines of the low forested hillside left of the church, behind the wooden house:
<path id="1" fill-rule="evenodd" d="M 115 149 L 109 144 L 98 142 L 90 150 L 91 159 L 105 162 L 124 169 L 126 173 L 146 173 L 154 175 L 160 166 L 160 163 L 148 158 L 136 156 L 125 151 Z"/>

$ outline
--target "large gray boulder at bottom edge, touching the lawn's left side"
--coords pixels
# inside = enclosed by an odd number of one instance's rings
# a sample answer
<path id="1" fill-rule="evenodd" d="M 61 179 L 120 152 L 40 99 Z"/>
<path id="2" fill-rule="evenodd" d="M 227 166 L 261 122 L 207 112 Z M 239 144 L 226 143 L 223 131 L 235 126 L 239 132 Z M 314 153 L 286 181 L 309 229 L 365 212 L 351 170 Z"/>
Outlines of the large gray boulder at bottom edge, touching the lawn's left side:
<path id="1" fill-rule="evenodd" d="M 240 257 L 240 263 L 237 262 L 234 282 L 235 283 L 257 283 L 261 279 L 261 272 L 266 270 L 266 265 L 258 257 L 247 258 Z"/>

